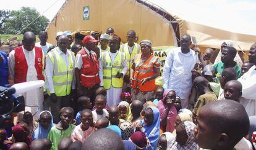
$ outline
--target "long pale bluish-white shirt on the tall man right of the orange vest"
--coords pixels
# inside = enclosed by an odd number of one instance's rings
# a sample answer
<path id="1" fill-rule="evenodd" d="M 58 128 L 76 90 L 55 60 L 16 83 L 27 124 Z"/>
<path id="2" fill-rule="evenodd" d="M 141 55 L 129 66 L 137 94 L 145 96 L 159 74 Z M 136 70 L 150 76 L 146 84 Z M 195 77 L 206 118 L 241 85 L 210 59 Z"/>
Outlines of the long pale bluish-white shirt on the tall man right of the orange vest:
<path id="1" fill-rule="evenodd" d="M 197 63 L 194 50 L 182 53 L 181 47 L 171 49 L 168 53 L 163 68 L 163 87 L 173 89 L 181 99 L 189 98 L 192 87 L 191 70 Z"/>

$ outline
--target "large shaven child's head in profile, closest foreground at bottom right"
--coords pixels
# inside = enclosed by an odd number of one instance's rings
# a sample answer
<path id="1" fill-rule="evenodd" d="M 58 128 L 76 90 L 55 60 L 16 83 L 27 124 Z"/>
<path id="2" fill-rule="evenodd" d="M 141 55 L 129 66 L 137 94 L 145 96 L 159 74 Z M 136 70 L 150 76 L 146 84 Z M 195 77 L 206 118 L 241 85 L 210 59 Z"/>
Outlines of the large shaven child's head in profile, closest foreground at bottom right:
<path id="1" fill-rule="evenodd" d="M 197 122 L 195 140 L 203 149 L 232 150 L 249 131 L 249 117 L 244 107 L 233 100 L 203 106 Z"/>

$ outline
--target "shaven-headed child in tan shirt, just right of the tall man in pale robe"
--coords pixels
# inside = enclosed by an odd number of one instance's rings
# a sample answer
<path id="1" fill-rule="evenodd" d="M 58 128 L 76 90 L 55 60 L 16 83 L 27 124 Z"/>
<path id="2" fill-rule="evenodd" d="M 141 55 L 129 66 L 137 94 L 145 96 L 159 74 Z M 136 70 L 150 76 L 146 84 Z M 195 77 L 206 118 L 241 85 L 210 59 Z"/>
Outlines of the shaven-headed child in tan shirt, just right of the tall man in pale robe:
<path id="1" fill-rule="evenodd" d="M 209 82 L 204 77 L 196 77 L 193 83 L 193 87 L 199 96 L 193 110 L 194 114 L 197 116 L 198 111 L 202 108 L 203 105 L 207 105 L 207 103 L 216 101 L 218 98 L 216 97 L 215 93 L 210 90 Z"/>

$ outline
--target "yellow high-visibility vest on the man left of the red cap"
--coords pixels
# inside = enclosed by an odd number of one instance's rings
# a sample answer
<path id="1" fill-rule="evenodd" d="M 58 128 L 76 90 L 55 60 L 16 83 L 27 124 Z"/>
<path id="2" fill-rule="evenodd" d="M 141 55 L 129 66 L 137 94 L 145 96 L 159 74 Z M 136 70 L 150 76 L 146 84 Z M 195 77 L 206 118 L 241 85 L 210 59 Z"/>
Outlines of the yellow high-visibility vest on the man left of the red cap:
<path id="1" fill-rule="evenodd" d="M 67 51 L 69 55 L 69 64 L 66 65 L 66 62 L 63 60 L 61 55 L 59 55 L 57 49 L 51 50 L 48 52 L 46 57 L 51 59 L 53 63 L 53 85 L 54 91 L 57 97 L 63 97 L 69 95 L 71 92 L 71 84 L 74 76 L 74 52 Z M 49 90 L 47 90 L 48 95 L 50 95 Z"/>

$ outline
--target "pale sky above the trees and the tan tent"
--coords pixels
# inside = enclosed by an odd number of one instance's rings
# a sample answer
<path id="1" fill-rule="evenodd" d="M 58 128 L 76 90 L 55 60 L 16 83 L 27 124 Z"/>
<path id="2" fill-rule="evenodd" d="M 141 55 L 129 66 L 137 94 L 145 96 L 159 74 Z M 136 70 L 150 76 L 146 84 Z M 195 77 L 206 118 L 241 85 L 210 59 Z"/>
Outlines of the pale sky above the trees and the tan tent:
<path id="1" fill-rule="evenodd" d="M 150 1 L 191 22 L 256 35 L 256 0 Z M 64 2 L 65 0 L 7 0 L 1 1 L 0 10 L 19 10 L 22 6 L 35 7 L 41 15 L 45 15 L 51 21 Z M 48 9 L 50 6 L 52 7 Z M 48 10 L 45 12 L 46 9 Z"/>

